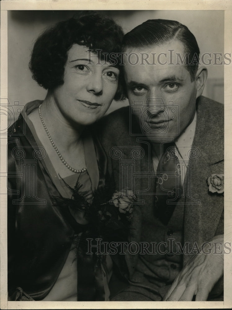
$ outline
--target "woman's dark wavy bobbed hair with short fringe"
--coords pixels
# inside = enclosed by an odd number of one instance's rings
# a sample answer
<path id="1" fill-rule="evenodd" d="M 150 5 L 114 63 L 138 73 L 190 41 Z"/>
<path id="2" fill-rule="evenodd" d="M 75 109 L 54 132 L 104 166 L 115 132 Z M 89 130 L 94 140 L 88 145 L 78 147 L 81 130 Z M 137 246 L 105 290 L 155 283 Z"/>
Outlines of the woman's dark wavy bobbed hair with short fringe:
<path id="1" fill-rule="evenodd" d="M 122 28 L 114 20 L 97 13 L 61 21 L 46 29 L 36 40 L 29 63 L 32 77 L 43 88 L 55 89 L 64 83 L 67 52 L 73 44 L 84 45 L 93 51 L 102 50 L 98 55 L 109 61 L 110 53 L 120 52 L 122 39 Z M 119 61 L 116 66 L 121 71 Z M 120 73 L 114 100 L 124 98 Z"/>

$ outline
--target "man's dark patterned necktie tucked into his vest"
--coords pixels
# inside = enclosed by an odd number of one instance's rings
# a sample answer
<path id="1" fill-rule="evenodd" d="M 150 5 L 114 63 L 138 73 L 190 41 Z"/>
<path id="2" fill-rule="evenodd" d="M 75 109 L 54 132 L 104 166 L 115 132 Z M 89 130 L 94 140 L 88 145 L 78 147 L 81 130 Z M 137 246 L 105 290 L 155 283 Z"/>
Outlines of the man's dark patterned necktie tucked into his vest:
<path id="1" fill-rule="evenodd" d="M 181 173 L 176 144 L 163 144 L 161 153 L 156 177 L 155 214 L 167 225 L 181 194 Z"/>

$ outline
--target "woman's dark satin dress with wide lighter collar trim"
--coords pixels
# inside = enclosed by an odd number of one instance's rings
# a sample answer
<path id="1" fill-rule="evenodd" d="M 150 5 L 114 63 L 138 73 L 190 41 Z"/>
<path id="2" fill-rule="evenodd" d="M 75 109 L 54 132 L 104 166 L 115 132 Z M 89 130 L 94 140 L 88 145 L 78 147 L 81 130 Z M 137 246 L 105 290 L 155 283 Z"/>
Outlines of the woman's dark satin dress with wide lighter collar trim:
<path id="1" fill-rule="evenodd" d="M 105 185 L 107 159 L 98 139 L 84 134 L 87 172 L 62 179 L 55 172 L 28 114 L 41 101 L 25 110 L 9 128 L 8 135 L 8 294 L 9 300 L 109 300 L 108 283 L 112 260 L 107 257 L 107 277 L 96 288 L 91 257 L 82 258 L 78 275 L 75 238 L 85 225 L 69 208 L 54 205 L 54 197 L 71 198 L 65 185 L 74 187 L 79 178 L 87 199 Z M 56 156 L 56 154 L 55 154 Z M 65 182 L 64 182 L 65 181 Z M 85 263 L 89 263 L 85 265 Z M 90 267 L 91 266 L 91 267 Z M 69 276 L 67 276 L 69 275 Z M 62 278 L 68 281 L 62 281 Z M 99 290 L 100 287 L 100 290 Z M 70 296 L 62 291 L 70 291 Z"/>

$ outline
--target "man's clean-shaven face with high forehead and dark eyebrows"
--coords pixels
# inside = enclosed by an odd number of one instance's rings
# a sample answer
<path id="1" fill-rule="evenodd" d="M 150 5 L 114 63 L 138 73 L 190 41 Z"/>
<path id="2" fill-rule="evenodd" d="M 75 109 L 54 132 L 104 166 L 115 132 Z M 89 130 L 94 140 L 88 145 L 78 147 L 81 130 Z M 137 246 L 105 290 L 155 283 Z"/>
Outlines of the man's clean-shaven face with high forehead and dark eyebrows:
<path id="1" fill-rule="evenodd" d="M 174 50 L 174 64 L 170 64 L 172 62 L 168 59 L 169 50 Z M 174 40 L 152 47 L 128 48 L 126 52 L 139 56 L 139 61 L 135 56 L 130 59 L 126 57 L 124 70 L 130 105 L 138 105 L 141 101 L 143 106 L 141 113 L 135 113 L 143 133 L 153 143 L 177 138 L 194 118 L 197 96 L 196 81 L 191 81 L 184 64 L 176 64 L 176 53 L 180 53 L 182 59 L 184 57 L 183 44 Z M 148 63 L 142 60 L 144 56 L 141 53 L 149 54 Z M 161 55 L 154 64 L 154 55 L 151 53 L 156 53 L 156 57 L 160 53 L 167 53 L 167 57 Z M 161 64 L 165 61 L 166 64 Z"/>

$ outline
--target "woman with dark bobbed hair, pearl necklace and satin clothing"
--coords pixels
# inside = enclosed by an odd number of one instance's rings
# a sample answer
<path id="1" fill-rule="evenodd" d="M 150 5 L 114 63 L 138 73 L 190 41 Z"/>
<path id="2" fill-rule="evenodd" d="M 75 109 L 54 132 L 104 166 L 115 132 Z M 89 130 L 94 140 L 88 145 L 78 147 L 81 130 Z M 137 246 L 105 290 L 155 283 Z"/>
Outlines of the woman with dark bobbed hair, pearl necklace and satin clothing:
<path id="1" fill-rule="evenodd" d="M 109 61 L 122 38 L 113 20 L 90 14 L 35 42 L 30 69 L 48 91 L 9 130 L 9 300 L 109 300 L 113 262 L 86 255 L 80 236 L 91 237 L 91 212 L 69 202 L 89 208 L 107 183 L 104 150 L 88 128 L 123 97 L 119 68 Z"/>

